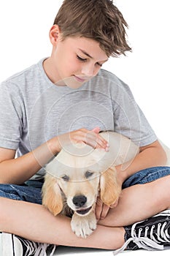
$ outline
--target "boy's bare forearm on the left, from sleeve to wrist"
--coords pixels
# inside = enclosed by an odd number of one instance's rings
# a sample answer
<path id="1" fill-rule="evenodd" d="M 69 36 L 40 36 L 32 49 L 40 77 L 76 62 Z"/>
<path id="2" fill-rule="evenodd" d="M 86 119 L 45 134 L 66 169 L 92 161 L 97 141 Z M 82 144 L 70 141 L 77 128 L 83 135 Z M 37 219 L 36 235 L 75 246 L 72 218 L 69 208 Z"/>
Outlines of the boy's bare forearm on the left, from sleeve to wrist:
<path id="1" fill-rule="evenodd" d="M 15 150 L 0 148 L 0 183 L 23 184 L 34 176 L 53 157 L 53 154 L 57 153 L 51 145 L 52 141 L 49 140 L 34 151 L 16 159 Z"/>

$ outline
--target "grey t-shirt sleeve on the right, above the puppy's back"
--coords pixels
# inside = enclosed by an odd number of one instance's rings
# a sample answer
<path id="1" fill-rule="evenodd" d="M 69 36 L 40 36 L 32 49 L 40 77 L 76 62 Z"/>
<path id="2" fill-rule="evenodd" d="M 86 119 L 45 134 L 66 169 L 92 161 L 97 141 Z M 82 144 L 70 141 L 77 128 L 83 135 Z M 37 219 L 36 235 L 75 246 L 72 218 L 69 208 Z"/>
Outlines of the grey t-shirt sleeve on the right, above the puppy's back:
<path id="1" fill-rule="evenodd" d="M 121 80 L 117 84 L 113 105 L 115 132 L 131 138 L 138 146 L 147 146 L 157 140 L 147 118 L 136 104 L 131 90 Z"/>

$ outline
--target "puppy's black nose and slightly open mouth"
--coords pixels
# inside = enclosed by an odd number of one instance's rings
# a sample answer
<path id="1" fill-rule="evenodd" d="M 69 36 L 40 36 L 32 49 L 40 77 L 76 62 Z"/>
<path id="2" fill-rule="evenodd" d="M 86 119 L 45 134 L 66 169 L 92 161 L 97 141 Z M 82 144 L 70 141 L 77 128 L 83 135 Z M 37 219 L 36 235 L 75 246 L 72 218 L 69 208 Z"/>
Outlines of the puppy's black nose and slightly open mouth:
<path id="1" fill-rule="evenodd" d="M 87 197 L 85 195 L 77 195 L 73 197 L 73 203 L 74 206 L 76 206 L 77 209 L 77 214 L 84 215 L 87 214 L 88 211 L 90 211 L 91 207 L 85 208 L 85 203 L 87 202 Z"/>

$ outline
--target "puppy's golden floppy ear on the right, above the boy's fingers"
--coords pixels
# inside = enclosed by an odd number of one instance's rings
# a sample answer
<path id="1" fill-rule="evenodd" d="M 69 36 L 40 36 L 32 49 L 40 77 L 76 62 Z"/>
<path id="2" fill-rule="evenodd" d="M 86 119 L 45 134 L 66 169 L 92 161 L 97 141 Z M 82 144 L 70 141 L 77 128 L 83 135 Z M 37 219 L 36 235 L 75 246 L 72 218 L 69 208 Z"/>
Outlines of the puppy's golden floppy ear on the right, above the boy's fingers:
<path id="1" fill-rule="evenodd" d="M 117 184 L 116 174 L 115 167 L 109 168 L 101 174 L 101 200 L 107 206 L 111 206 L 120 197 L 121 187 Z"/>

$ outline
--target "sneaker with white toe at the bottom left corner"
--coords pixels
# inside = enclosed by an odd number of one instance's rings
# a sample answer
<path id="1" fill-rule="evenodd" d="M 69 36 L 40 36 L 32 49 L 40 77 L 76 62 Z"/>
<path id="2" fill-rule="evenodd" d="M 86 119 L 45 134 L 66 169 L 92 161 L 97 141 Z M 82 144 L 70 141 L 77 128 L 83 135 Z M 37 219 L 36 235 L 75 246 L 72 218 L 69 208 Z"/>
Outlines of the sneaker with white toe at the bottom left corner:
<path id="1" fill-rule="evenodd" d="M 50 256 L 55 252 L 55 245 L 36 243 L 20 236 L 9 233 L 0 233 L 0 252 L 1 256 Z"/>

